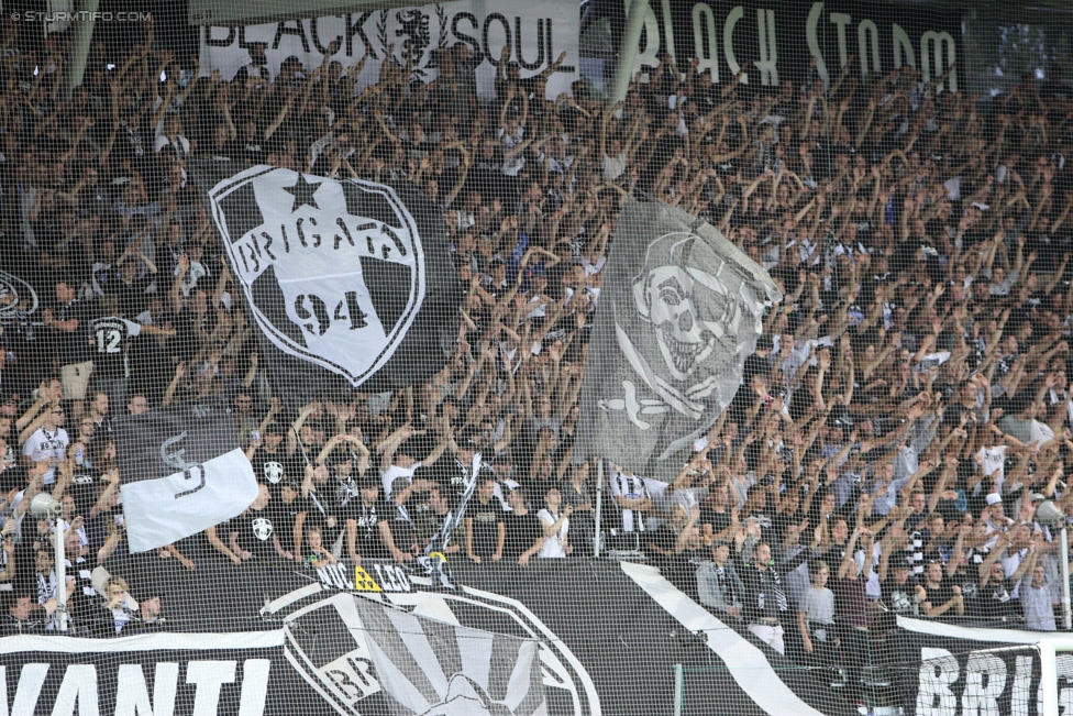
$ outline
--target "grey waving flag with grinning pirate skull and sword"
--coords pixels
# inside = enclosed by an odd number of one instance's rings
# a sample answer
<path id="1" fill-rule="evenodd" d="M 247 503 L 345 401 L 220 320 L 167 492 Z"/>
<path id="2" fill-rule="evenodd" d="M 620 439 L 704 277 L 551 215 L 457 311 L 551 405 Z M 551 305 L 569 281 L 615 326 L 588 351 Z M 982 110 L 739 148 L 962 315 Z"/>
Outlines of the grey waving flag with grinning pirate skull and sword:
<path id="1" fill-rule="evenodd" d="M 715 228 L 660 202 L 626 205 L 606 271 L 574 456 L 671 481 L 733 399 L 782 294 Z"/>

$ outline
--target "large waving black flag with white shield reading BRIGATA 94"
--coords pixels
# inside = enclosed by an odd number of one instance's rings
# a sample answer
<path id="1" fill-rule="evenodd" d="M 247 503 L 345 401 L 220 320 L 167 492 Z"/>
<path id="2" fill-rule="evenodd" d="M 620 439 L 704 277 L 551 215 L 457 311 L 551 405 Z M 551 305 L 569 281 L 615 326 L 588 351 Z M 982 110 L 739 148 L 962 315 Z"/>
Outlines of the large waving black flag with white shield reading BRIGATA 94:
<path id="1" fill-rule="evenodd" d="M 443 368 L 462 294 L 443 218 L 416 187 L 268 166 L 196 175 L 278 389 L 392 389 Z"/>

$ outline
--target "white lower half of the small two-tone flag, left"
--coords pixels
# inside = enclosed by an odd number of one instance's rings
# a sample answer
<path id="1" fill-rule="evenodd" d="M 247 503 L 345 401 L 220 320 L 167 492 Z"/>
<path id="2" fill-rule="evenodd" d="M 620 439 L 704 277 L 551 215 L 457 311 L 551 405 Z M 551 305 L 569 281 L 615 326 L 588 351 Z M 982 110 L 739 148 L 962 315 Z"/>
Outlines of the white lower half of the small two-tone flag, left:
<path id="1" fill-rule="evenodd" d="M 257 478 L 234 449 L 158 480 L 123 485 L 131 552 L 145 552 L 241 515 L 257 498 Z"/>

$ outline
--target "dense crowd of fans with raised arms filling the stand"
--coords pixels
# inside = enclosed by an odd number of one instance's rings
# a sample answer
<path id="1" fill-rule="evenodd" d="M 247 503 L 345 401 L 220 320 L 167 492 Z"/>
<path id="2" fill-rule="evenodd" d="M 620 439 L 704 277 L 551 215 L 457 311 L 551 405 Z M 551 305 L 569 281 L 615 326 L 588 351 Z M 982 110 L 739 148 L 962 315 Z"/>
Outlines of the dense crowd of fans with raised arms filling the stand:
<path id="1" fill-rule="evenodd" d="M 1055 628 L 1068 555 L 1036 509 L 1073 504 L 1061 84 L 976 98 L 908 66 L 862 80 L 851 58 L 829 87 L 718 85 L 664 57 L 609 106 L 584 80 L 547 96 L 557 64 L 521 79 L 504 62 L 484 103 L 465 44 L 433 81 L 386 62 L 358 88 L 361 65 L 330 60 L 272 76 L 256 44 L 228 81 L 153 32 L 122 56 L 95 43 L 69 101 L 65 35 L 31 49 L 7 23 L 0 40 L 0 261 L 37 297 L 0 296 L 9 630 L 54 628 L 59 588 L 95 634 L 154 623 L 159 595 L 107 571 L 126 552 L 112 420 L 192 401 L 230 410 L 263 488 L 140 558 L 177 570 L 410 562 L 474 483 L 452 559 L 591 554 L 602 464 L 604 549 L 643 551 L 777 651 L 853 662 L 896 614 Z M 465 291 L 443 371 L 283 404 L 189 161 L 423 188 Z M 671 484 L 573 450 L 618 212 L 651 197 L 706 218 L 785 297 Z M 27 518 L 42 491 L 63 504 L 67 585 L 53 525 Z"/>

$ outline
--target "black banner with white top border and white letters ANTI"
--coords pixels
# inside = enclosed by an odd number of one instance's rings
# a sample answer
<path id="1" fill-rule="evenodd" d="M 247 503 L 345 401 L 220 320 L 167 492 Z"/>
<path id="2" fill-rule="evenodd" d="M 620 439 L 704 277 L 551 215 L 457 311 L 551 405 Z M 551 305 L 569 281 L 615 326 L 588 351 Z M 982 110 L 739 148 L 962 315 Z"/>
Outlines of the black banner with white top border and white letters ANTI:
<path id="1" fill-rule="evenodd" d="M 0 639 L 4 716 L 291 716 L 317 701 L 281 629 Z"/>

